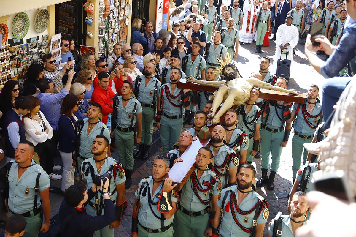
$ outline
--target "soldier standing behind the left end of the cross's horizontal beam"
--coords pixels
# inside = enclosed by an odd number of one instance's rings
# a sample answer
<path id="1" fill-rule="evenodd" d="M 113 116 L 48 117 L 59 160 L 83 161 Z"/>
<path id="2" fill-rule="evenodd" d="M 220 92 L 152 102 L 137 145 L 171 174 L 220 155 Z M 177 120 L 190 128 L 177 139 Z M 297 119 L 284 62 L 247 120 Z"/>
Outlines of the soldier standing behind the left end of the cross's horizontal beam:
<path id="1" fill-rule="evenodd" d="M 200 43 L 195 41 L 192 43 L 192 53 L 184 56 L 183 60 L 183 67 L 182 70 L 188 76 L 197 77 L 198 79 L 205 80 L 205 68 L 206 68 L 206 61 L 203 56 L 199 54 L 200 50 Z M 192 93 L 190 95 L 190 101 L 192 101 Z M 185 121 L 188 124 L 192 125 L 194 123 L 194 113 L 197 110 L 197 105 L 190 104 L 190 108 L 188 108 L 188 112 L 186 111 Z M 190 113 L 189 117 L 188 114 Z"/>

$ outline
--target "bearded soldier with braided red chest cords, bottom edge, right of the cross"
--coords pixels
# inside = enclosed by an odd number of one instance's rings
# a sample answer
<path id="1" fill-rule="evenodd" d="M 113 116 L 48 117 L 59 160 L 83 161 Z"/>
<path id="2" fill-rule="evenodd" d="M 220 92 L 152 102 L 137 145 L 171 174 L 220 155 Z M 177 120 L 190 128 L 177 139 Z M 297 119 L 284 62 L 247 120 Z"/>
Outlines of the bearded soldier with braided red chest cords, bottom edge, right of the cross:
<path id="1" fill-rule="evenodd" d="M 268 218 L 268 202 L 252 190 L 256 170 L 251 164 L 243 164 L 237 177 L 237 185 L 220 192 L 213 235 L 262 237 Z M 231 213 L 231 214 L 230 214 Z M 219 234 L 218 226 L 220 225 Z"/>

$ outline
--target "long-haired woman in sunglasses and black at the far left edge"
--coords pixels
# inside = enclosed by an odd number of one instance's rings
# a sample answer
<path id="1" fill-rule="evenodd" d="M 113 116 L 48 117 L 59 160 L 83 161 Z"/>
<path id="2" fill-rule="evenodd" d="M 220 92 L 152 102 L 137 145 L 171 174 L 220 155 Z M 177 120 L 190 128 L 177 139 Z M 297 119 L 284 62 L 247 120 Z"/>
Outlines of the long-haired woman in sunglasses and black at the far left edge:
<path id="1" fill-rule="evenodd" d="M 15 107 L 15 99 L 20 96 L 20 84 L 15 80 L 5 82 L 0 93 L 0 110 L 3 114 Z"/>

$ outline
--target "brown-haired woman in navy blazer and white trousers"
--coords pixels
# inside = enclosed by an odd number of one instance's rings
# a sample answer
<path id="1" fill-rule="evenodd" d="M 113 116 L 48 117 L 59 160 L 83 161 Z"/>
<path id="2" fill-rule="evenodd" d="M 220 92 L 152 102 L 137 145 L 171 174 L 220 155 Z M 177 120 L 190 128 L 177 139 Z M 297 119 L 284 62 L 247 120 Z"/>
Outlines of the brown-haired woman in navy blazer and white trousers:
<path id="1" fill-rule="evenodd" d="M 78 118 L 75 112 L 79 108 L 78 97 L 74 94 L 67 94 L 64 97 L 59 117 L 59 153 L 63 161 L 62 185 L 61 190 L 66 191 L 74 183 L 73 157 L 76 147 L 75 121 Z"/>

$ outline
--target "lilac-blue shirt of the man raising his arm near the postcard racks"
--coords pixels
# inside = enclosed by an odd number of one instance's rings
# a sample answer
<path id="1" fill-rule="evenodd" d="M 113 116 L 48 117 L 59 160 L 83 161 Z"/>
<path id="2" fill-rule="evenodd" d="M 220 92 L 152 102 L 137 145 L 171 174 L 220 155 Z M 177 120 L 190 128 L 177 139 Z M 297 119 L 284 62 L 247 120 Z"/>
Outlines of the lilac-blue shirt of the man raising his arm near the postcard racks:
<path id="1" fill-rule="evenodd" d="M 61 114 L 60 102 L 67 96 L 69 92 L 66 88 L 63 88 L 58 94 L 51 93 L 38 93 L 37 98 L 41 100 L 41 112 L 45 115 L 49 124 L 53 130 L 58 130 L 58 120 Z"/>

